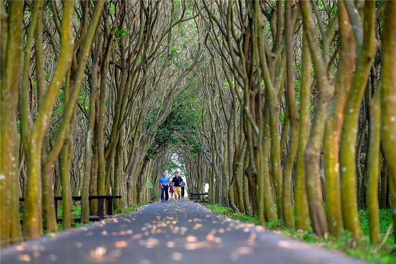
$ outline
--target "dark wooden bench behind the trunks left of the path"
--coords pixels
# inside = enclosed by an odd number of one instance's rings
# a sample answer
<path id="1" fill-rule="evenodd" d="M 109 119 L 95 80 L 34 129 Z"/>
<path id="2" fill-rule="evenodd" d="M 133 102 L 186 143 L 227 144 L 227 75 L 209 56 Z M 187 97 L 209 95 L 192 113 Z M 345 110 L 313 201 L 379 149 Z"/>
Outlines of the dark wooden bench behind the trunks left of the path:
<path id="1" fill-rule="evenodd" d="M 104 217 L 104 200 L 106 200 L 107 203 L 107 215 L 113 215 L 113 199 L 120 199 L 121 196 L 120 195 L 116 195 L 116 196 L 112 196 L 112 195 L 94 195 L 94 196 L 89 196 L 88 200 L 98 200 L 98 213 L 99 215 L 97 217 L 95 216 L 90 216 L 90 220 L 102 220 Z M 81 201 L 82 197 L 81 196 L 72 196 L 72 200 L 73 201 Z M 58 203 L 57 201 L 62 201 L 62 197 L 60 196 L 55 196 L 54 197 L 55 200 L 55 215 L 56 215 L 56 220 L 61 220 L 62 217 L 57 216 L 57 212 L 58 212 Z M 19 202 L 23 202 L 25 201 L 25 198 L 21 197 L 19 198 Z M 75 220 L 79 220 L 80 217 L 74 217 Z"/>

